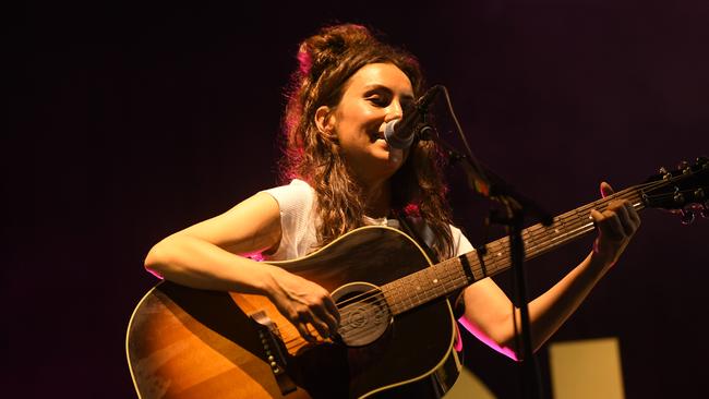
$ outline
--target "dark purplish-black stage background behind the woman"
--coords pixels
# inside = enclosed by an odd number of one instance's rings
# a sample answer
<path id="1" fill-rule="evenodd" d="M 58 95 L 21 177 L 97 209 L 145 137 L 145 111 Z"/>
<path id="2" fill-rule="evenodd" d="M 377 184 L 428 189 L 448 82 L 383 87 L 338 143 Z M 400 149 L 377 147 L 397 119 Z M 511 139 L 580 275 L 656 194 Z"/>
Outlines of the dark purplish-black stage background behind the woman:
<path id="1" fill-rule="evenodd" d="M 416 53 L 477 156 L 553 213 L 593 201 L 602 179 L 625 188 L 709 153 L 705 0 L 97 3 L 25 2 L 4 17 L 10 397 L 134 396 L 124 335 L 156 282 L 145 254 L 276 184 L 283 88 L 323 24 L 364 23 Z M 452 194 L 481 243 L 485 205 L 455 179 Z M 707 396 L 709 222 L 644 215 L 552 341 L 618 337 L 629 398 Z M 591 242 L 529 262 L 531 293 Z M 519 396 L 512 361 L 469 335 L 466 347 L 495 395 Z M 546 347 L 539 361 L 549 389 Z"/>

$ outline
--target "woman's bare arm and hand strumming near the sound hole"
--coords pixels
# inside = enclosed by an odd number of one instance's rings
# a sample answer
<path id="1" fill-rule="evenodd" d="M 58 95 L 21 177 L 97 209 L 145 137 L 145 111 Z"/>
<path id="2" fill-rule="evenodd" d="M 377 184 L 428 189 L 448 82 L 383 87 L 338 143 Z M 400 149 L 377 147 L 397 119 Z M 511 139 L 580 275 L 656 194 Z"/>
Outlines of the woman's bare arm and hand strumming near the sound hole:
<path id="1" fill-rule="evenodd" d="M 259 193 L 158 242 L 148 252 L 145 268 L 192 288 L 268 297 L 304 338 L 312 339 L 307 324 L 327 337 L 339 319 L 327 290 L 280 267 L 240 256 L 275 250 L 280 237 L 278 203 Z"/>

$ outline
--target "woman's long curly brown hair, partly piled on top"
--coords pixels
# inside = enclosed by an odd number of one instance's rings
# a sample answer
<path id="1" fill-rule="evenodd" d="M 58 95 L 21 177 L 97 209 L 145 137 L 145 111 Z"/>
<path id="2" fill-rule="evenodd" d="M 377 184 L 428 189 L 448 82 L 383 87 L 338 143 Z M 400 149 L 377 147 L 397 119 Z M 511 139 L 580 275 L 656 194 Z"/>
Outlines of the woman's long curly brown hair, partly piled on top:
<path id="1" fill-rule="evenodd" d="M 422 93 L 423 74 L 413 56 L 353 24 L 327 26 L 303 40 L 298 61 L 284 118 L 281 180 L 301 179 L 315 190 L 316 238 L 325 245 L 364 225 L 364 201 L 337 142 L 317 130 L 315 111 L 321 106 L 337 106 L 348 80 L 366 64 L 396 65 L 411 81 L 416 97 Z M 441 159 L 433 142 L 412 144 L 408 158 L 392 177 L 392 211 L 423 218 L 437 238 L 432 250 L 443 259 L 453 256 L 453 238 Z"/>

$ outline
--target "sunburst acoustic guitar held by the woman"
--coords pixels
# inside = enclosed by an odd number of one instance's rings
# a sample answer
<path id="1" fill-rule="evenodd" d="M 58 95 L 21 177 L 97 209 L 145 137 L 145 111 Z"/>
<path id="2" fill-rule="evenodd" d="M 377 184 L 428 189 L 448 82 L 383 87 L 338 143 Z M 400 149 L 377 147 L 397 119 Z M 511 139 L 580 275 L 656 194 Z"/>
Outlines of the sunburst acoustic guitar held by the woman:
<path id="1" fill-rule="evenodd" d="M 636 209 L 707 217 L 709 161 L 524 230 L 531 258 L 594 230 L 590 209 L 615 198 Z M 130 319 L 127 355 L 140 398 L 442 397 L 461 367 L 447 295 L 510 267 L 509 240 L 432 264 L 399 230 L 356 229 L 321 250 L 273 265 L 327 289 L 341 322 L 336 338 L 305 341 L 265 297 L 159 282 Z"/>

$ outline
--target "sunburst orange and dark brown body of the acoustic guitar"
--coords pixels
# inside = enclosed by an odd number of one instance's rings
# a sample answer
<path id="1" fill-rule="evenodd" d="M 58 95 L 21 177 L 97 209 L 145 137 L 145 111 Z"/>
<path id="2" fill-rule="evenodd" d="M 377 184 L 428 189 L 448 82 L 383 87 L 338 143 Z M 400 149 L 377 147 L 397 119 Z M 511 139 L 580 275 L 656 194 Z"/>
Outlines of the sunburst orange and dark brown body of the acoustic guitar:
<path id="1" fill-rule="evenodd" d="M 360 228 L 307 257 L 273 264 L 331 292 L 381 287 L 431 265 L 413 240 L 386 227 Z M 264 347 L 263 327 L 250 317 L 259 312 L 277 327 L 285 373 L 274 373 L 273 344 Z M 164 281 L 136 306 L 127 352 L 141 398 L 443 396 L 460 370 L 448 301 L 383 323 L 385 332 L 368 344 L 308 343 L 265 297 Z"/>

